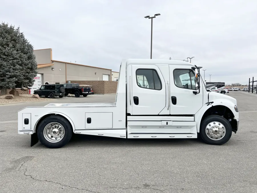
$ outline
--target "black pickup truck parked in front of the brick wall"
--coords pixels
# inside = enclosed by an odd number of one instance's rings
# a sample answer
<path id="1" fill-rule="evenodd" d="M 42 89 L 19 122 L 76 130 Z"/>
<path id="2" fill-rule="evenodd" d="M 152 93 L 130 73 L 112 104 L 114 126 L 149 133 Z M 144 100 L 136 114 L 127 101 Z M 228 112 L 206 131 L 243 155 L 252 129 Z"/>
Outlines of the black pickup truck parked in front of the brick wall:
<path id="1" fill-rule="evenodd" d="M 63 85 L 65 88 L 65 94 L 64 94 L 65 96 L 67 96 L 68 94 L 74 94 L 75 97 L 80 97 L 80 95 L 83 95 L 84 97 L 86 97 L 91 91 L 91 88 L 79 87 L 79 84 L 77 83 L 67 83 Z"/>

